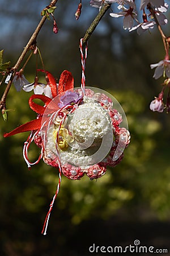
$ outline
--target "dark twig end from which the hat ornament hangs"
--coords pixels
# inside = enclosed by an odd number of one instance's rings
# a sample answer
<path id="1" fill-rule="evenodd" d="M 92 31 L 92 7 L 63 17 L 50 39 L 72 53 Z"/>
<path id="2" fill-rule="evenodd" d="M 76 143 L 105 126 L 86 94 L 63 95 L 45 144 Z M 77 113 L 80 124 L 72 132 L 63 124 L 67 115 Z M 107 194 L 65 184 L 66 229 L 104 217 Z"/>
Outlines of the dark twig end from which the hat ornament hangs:
<path id="1" fill-rule="evenodd" d="M 94 32 L 95 28 L 99 24 L 101 18 L 103 18 L 104 14 L 107 12 L 107 10 L 111 7 L 111 3 L 105 3 L 103 8 L 99 11 L 99 14 L 96 16 L 94 21 L 91 23 L 90 27 L 86 30 L 85 35 L 83 36 L 83 42 L 82 46 L 85 46 L 88 39 L 90 38 L 91 34 Z"/>

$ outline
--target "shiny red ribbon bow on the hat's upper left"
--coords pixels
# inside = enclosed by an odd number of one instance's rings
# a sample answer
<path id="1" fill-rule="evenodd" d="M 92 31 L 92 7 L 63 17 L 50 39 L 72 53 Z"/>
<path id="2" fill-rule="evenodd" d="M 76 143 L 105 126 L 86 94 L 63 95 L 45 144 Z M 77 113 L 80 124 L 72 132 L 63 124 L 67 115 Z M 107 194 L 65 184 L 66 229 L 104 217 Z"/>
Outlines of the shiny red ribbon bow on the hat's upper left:
<path id="1" fill-rule="evenodd" d="M 67 70 L 62 72 L 62 74 L 60 76 L 60 79 L 59 79 L 58 88 L 57 88 L 56 79 L 54 79 L 53 75 L 50 72 L 44 71 L 42 69 L 38 69 L 38 71 L 44 72 L 48 76 L 49 86 L 51 88 L 53 98 L 56 97 L 58 94 L 60 94 L 62 92 L 65 92 L 66 90 L 73 90 L 74 89 L 74 78 L 73 78 L 71 72 L 69 72 Z M 35 99 L 39 99 L 39 100 L 43 101 L 45 106 L 41 106 L 39 104 L 36 104 L 33 101 Z M 20 125 L 16 129 L 10 131 L 10 133 L 5 133 L 3 135 L 3 137 L 6 138 L 6 137 L 9 137 L 11 135 L 15 135 L 15 134 L 18 134 L 18 133 L 23 133 L 24 131 L 39 130 L 41 128 L 42 115 L 44 114 L 44 111 L 45 111 L 46 107 L 48 106 L 48 104 L 51 101 L 52 101 L 52 99 L 45 96 L 45 95 L 33 94 L 29 98 L 28 103 L 29 103 L 30 108 L 33 111 L 35 111 L 37 114 L 39 114 L 40 117 L 37 118 L 37 119 L 34 119 L 30 122 L 24 123 L 24 125 Z"/>

